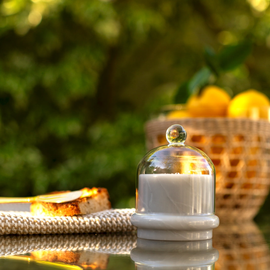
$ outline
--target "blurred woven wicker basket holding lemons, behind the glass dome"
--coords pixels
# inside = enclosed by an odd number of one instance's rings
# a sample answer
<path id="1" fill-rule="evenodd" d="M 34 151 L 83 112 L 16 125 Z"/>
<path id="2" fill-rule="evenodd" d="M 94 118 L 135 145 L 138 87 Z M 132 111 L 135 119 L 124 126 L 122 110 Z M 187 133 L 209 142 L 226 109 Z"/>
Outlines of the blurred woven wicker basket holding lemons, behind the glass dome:
<path id="1" fill-rule="evenodd" d="M 172 124 L 181 124 L 187 130 L 185 144 L 204 151 L 215 165 L 218 217 L 252 219 L 269 192 L 270 123 L 217 117 L 150 120 L 145 126 L 149 150 L 167 144 Z"/>

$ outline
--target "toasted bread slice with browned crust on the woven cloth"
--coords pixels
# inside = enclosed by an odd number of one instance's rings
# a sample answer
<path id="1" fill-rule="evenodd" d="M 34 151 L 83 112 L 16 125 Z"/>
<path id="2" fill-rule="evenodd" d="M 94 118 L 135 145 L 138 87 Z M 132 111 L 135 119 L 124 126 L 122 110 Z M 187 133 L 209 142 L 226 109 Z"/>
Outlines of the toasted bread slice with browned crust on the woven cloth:
<path id="1" fill-rule="evenodd" d="M 111 208 L 109 193 L 106 188 L 83 188 L 83 195 L 66 203 L 46 203 L 35 201 L 30 206 L 32 215 L 73 216 L 91 214 Z"/>

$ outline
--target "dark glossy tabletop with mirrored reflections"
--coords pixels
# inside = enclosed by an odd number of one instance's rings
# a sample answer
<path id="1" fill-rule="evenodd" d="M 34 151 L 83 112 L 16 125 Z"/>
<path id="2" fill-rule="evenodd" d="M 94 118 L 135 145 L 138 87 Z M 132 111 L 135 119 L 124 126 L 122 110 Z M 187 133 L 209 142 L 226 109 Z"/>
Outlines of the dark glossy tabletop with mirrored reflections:
<path id="1" fill-rule="evenodd" d="M 213 238 L 154 241 L 136 231 L 0 236 L 0 269 L 270 269 L 269 218 L 222 223 Z"/>

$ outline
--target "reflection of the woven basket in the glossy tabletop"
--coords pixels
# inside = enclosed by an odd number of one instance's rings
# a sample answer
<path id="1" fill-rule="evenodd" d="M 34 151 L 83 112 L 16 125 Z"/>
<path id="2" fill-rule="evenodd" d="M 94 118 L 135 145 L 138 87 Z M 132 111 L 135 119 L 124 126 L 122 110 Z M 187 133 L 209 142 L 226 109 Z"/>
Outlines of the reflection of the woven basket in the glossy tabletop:
<path id="1" fill-rule="evenodd" d="M 213 230 L 213 247 L 219 259 L 215 270 L 269 270 L 269 247 L 257 225 L 251 221 L 220 224 Z"/>

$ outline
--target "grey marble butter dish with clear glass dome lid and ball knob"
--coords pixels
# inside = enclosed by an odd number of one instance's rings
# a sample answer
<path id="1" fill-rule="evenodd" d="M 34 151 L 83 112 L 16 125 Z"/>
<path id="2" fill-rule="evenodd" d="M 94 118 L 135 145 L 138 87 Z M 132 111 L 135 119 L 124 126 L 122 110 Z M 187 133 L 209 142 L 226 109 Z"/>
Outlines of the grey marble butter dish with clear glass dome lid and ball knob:
<path id="1" fill-rule="evenodd" d="M 137 167 L 137 236 L 153 240 L 205 240 L 219 224 L 215 215 L 215 167 L 201 150 L 185 145 L 187 133 L 175 124 L 168 145 L 149 151 Z"/>

